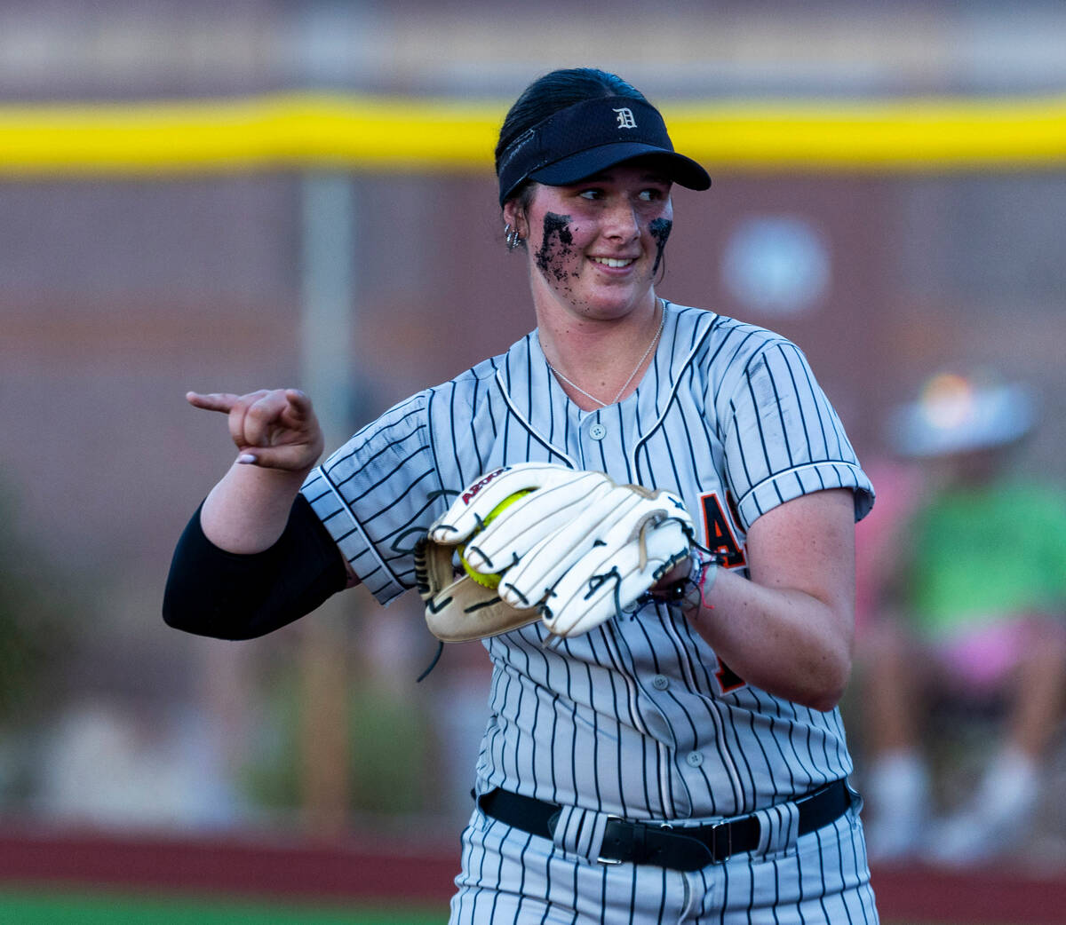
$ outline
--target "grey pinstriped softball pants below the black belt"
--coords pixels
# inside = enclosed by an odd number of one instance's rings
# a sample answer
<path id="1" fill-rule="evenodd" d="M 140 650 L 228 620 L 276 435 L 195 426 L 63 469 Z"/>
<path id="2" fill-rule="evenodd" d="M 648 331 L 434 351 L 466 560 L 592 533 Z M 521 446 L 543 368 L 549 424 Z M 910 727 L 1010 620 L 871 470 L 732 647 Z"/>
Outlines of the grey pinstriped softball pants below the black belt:
<path id="1" fill-rule="evenodd" d="M 474 810 L 451 925 L 876 925 L 857 807 L 764 854 L 682 873 L 605 865 Z"/>

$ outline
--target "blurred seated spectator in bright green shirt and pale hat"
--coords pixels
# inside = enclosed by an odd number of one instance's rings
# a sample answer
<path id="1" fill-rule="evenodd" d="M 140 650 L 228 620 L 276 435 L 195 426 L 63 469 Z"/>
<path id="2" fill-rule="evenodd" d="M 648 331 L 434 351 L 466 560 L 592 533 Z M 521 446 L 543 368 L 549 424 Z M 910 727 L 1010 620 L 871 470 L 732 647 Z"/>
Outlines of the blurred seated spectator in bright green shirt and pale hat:
<path id="1" fill-rule="evenodd" d="M 1034 423 L 1025 388 L 954 374 L 891 420 L 901 462 L 874 481 L 894 516 L 859 537 L 858 561 L 875 861 L 976 863 L 1034 823 L 1066 692 L 1066 492 L 1013 472 Z M 983 741 L 972 790 L 937 822 L 923 720 L 943 702 L 991 707 L 1003 726 Z"/>

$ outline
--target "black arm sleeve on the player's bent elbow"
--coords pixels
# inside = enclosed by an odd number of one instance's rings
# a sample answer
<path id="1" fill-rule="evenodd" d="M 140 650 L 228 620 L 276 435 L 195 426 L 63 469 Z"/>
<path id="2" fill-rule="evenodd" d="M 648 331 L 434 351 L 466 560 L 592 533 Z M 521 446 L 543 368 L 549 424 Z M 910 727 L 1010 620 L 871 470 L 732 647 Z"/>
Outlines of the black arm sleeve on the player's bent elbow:
<path id="1" fill-rule="evenodd" d="M 348 583 L 340 550 L 302 494 L 277 542 L 251 555 L 216 547 L 204 535 L 199 515 L 198 507 L 171 562 L 163 594 L 169 627 L 252 639 L 309 614 Z"/>

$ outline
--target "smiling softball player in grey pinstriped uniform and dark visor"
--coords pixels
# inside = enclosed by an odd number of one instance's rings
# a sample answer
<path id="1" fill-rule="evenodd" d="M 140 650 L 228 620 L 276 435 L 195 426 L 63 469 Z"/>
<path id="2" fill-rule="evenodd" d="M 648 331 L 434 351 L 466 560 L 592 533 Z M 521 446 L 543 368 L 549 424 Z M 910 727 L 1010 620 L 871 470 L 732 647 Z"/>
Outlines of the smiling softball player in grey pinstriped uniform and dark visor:
<path id="1" fill-rule="evenodd" d="M 190 394 L 239 456 L 179 542 L 167 622 L 260 635 L 357 582 L 387 603 L 415 585 L 416 540 L 500 467 L 664 489 L 717 564 L 693 547 L 587 632 L 485 639 L 451 921 L 876 922 L 836 709 L 873 491 L 837 415 L 787 340 L 657 296 L 671 184 L 710 179 L 629 84 L 535 81 L 497 172 L 536 329 L 317 467 L 302 393 Z M 672 598 L 689 563 L 698 594 Z"/>

